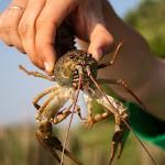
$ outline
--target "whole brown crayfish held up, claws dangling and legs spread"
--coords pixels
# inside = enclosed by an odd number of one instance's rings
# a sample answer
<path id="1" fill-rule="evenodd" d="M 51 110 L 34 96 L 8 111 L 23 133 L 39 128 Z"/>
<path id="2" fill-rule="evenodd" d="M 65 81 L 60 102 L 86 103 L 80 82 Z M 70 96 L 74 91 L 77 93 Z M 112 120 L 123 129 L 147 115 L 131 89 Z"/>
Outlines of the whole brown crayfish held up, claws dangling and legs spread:
<path id="1" fill-rule="evenodd" d="M 65 35 L 66 40 L 57 38 L 58 36 L 62 37 L 62 35 Z M 111 96 L 106 95 L 101 90 L 99 85 L 100 84 L 121 85 L 125 88 L 128 92 L 130 92 L 139 101 L 141 106 L 143 106 L 143 108 L 145 108 L 142 101 L 133 94 L 133 91 L 122 80 L 97 79 L 98 69 L 105 68 L 114 63 L 117 54 L 119 53 L 124 42 L 121 42 L 118 45 L 113 58 L 110 63 L 99 65 L 96 62 L 96 59 L 92 58 L 91 54 L 88 54 L 85 51 L 75 50 L 73 35 L 70 34 L 70 31 L 68 31 L 68 28 L 65 22 L 59 26 L 55 48 L 57 50 L 58 61 L 54 66 L 54 77 L 45 76 L 40 73 L 28 72 L 25 68 L 20 66 L 20 68 L 23 69 L 28 75 L 33 75 L 35 77 L 42 77 L 52 81 L 57 81 L 57 85 L 41 92 L 33 100 L 33 105 L 37 109 L 36 138 L 38 142 L 53 154 L 53 156 L 56 158 L 58 163 L 61 163 L 61 165 L 63 164 L 63 156 L 61 162 L 61 158 L 56 154 L 55 150 L 63 152 L 65 155 L 75 161 L 77 164 L 82 165 L 80 161 L 78 161 L 65 148 L 65 144 L 63 146 L 61 141 L 53 134 L 52 124 L 57 124 L 62 122 L 70 113 L 73 114 L 75 109 L 80 119 L 87 120 L 86 128 L 89 124 L 91 124 L 92 127 L 94 123 L 103 120 L 108 118 L 111 113 L 113 113 L 116 117 L 116 131 L 112 136 L 112 152 L 109 163 L 111 164 L 118 144 L 120 145 L 118 156 L 119 158 L 121 156 L 125 140 L 129 135 L 131 129 L 129 127 L 130 112 L 122 102 L 112 98 Z M 78 107 L 78 105 L 76 105 L 79 90 L 84 91 L 85 101 L 87 102 L 87 111 L 89 113 L 88 118 L 81 118 L 80 108 Z M 42 106 L 38 106 L 37 101 L 47 94 L 50 94 L 47 99 L 43 102 Z M 64 110 L 59 111 L 68 99 L 70 99 L 72 106 L 65 112 Z M 98 103 L 102 105 L 102 107 L 105 108 L 103 113 L 92 116 L 92 103 L 91 103 L 92 100 L 97 100 Z M 70 112 L 72 107 L 73 112 Z"/>

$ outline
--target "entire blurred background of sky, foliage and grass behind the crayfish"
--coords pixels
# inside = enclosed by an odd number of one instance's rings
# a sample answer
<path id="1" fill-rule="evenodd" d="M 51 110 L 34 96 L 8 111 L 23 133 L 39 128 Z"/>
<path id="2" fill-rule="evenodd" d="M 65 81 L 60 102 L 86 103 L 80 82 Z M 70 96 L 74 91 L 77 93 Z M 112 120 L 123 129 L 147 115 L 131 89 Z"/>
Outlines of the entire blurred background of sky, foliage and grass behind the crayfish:
<path id="1" fill-rule="evenodd" d="M 11 0 L 0 1 L 0 13 Z M 165 1 L 164 0 L 110 0 L 118 15 L 136 29 L 148 42 L 153 54 L 165 57 Z M 6 46 L 0 40 L 0 165 L 46 165 L 56 164 L 53 157 L 40 146 L 35 139 L 36 110 L 32 100 L 41 91 L 54 85 L 48 80 L 25 75 L 18 65 L 28 70 L 40 72 L 30 63 L 26 55 L 14 47 Z M 105 87 L 107 89 L 107 87 Z M 113 94 L 112 94 L 113 95 Z M 120 98 L 119 98 L 120 99 Z M 43 100 L 42 100 L 43 101 Z M 86 107 L 84 98 L 78 100 L 80 107 Z M 67 105 L 66 105 L 67 107 Z M 82 108 L 81 108 L 82 109 Z M 100 111 L 98 109 L 98 111 Z M 82 111 L 86 116 L 86 109 Z M 68 120 L 54 127 L 55 134 L 64 141 Z M 67 141 L 67 148 L 85 165 L 106 165 L 111 152 L 111 136 L 114 130 L 113 118 L 96 124 L 91 131 L 84 130 L 85 123 L 76 116 Z M 163 151 L 144 142 L 157 165 L 165 164 Z M 67 165 L 74 165 L 65 158 Z M 113 165 L 152 165 L 153 163 L 138 143 L 129 135 L 124 152 Z"/>

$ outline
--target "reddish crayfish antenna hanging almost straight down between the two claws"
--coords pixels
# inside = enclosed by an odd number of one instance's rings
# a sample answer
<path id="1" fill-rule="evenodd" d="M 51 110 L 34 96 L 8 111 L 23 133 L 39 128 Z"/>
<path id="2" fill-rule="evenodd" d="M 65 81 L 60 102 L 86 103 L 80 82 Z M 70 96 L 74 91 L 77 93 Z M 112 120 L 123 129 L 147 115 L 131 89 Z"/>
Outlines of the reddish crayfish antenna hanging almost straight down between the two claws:
<path id="1" fill-rule="evenodd" d="M 75 107 L 76 107 L 76 102 L 77 102 L 77 99 L 78 99 L 78 96 L 79 96 L 79 90 L 80 90 L 80 86 L 81 86 L 81 79 L 82 79 L 82 75 L 80 74 L 79 75 L 78 89 L 77 89 L 77 94 L 76 94 L 76 98 L 75 98 L 75 102 L 74 102 L 74 107 L 73 107 L 73 111 L 72 111 L 72 117 L 70 117 L 69 125 L 68 125 L 68 129 L 67 129 L 67 132 L 66 132 L 66 136 L 65 136 L 65 141 L 64 141 L 61 165 L 63 165 L 64 154 L 66 152 L 66 150 L 65 150 L 66 141 L 67 141 L 67 138 L 68 138 L 70 124 L 72 124 L 72 121 L 73 121 L 73 116 L 74 116 L 74 110 L 75 110 Z M 81 163 L 78 163 L 78 164 L 82 165 Z"/>

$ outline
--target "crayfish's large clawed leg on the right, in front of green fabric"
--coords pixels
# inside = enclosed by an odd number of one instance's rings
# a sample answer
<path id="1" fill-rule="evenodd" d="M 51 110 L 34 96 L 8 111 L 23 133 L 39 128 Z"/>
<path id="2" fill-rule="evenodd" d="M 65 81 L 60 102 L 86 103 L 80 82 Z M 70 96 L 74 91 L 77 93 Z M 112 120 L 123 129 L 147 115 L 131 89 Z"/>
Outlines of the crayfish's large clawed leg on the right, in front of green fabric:
<path id="1" fill-rule="evenodd" d="M 94 92 L 91 94 L 90 91 L 94 91 Z M 97 100 L 98 103 L 106 107 L 106 111 L 108 110 L 116 116 L 116 131 L 114 131 L 114 134 L 112 138 L 112 152 L 111 152 L 110 163 L 109 163 L 109 165 L 110 165 L 116 155 L 118 144 L 120 144 L 118 158 L 121 156 L 121 153 L 123 150 L 123 144 L 127 141 L 128 135 L 130 133 L 130 130 L 128 129 L 127 124 L 123 122 L 123 120 L 124 120 L 124 121 L 127 121 L 127 123 L 129 123 L 130 112 L 122 102 L 120 102 L 119 100 L 105 94 L 107 96 L 107 98 L 109 99 L 109 101 L 108 101 L 101 95 L 101 92 L 98 89 L 96 89 L 95 87 L 92 87 L 92 89 L 90 87 L 87 87 L 87 88 L 85 88 L 84 92 L 88 97 L 91 97 L 92 99 Z M 117 111 L 118 111 L 118 113 L 117 113 Z M 121 119 L 121 117 L 123 120 Z"/>

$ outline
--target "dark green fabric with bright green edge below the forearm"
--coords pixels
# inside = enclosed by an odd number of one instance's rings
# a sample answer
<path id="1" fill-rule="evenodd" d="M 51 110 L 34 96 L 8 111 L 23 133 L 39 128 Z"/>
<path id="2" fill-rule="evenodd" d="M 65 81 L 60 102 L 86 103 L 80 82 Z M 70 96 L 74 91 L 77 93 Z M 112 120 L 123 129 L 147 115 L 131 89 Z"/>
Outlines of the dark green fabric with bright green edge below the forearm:
<path id="1" fill-rule="evenodd" d="M 165 150 L 165 121 L 161 121 L 147 113 L 139 106 L 127 102 L 132 130 L 142 139 L 150 141 Z"/>

